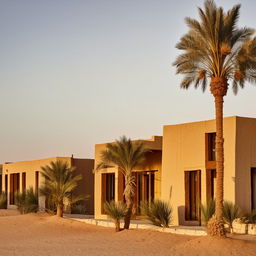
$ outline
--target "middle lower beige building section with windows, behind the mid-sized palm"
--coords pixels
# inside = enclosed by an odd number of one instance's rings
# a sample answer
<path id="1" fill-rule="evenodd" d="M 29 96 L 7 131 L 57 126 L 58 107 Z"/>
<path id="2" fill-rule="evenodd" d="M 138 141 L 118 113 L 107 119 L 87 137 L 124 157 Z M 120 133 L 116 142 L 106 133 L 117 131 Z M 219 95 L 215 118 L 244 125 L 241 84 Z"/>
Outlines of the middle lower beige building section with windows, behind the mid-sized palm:
<path id="1" fill-rule="evenodd" d="M 161 162 L 162 162 L 162 137 L 155 136 L 143 140 L 150 152 L 146 155 L 143 165 L 137 166 L 135 176 L 135 208 L 136 215 L 140 215 L 139 203 L 144 200 L 153 200 L 161 196 Z M 106 144 L 95 146 L 95 166 L 100 162 L 101 152 L 106 149 Z M 106 201 L 123 201 L 124 176 L 115 168 L 107 168 L 95 172 L 95 218 L 107 218 L 104 213 Z"/>

